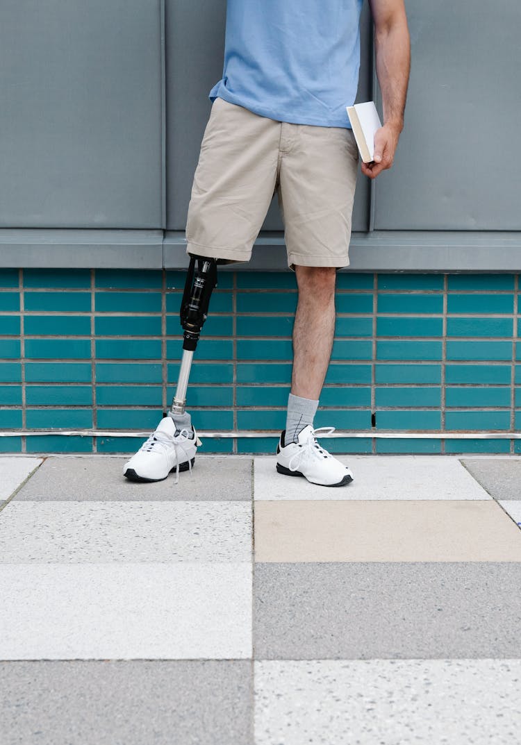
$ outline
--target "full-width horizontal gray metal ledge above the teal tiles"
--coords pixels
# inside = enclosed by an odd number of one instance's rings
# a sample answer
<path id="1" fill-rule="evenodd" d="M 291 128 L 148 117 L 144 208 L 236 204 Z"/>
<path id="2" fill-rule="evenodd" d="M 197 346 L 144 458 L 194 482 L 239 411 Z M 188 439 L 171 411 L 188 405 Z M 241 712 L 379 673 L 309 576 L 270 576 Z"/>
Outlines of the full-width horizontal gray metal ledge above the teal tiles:
<path id="1" fill-rule="evenodd" d="M 353 232 L 354 272 L 511 272 L 521 270 L 521 231 L 375 230 Z M 0 267 L 185 270 L 184 230 L 0 229 Z M 284 233 L 261 231 L 250 261 L 225 271 L 288 271 Z M 345 271 L 345 270 L 344 270 Z"/>

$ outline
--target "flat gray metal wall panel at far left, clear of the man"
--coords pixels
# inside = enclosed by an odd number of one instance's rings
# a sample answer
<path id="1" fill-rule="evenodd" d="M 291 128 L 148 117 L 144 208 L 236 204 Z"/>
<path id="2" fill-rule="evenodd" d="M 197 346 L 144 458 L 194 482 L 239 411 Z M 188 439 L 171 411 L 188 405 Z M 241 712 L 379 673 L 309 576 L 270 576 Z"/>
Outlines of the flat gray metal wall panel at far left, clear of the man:
<path id="1" fill-rule="evenodd" d="M 160 0 L 2 1 L 0 226 L 162 228 L 161 60 Z"/>

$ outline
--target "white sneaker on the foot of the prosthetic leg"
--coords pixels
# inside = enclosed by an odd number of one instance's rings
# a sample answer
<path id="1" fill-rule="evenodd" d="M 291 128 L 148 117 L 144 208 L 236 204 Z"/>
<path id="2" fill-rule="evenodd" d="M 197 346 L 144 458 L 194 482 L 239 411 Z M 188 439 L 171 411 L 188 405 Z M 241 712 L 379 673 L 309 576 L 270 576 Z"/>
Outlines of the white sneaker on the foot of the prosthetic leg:
<path id="1" fill-rule="evenodd" d="M 156 431 L 124 464 L 123 475 L 130 481 L 162 481 L 175 469 L 177 484 L 180 471 L 192 472 L 200 440 L 193 427 L 176 431 L 171 416 L 161 419 Z"/>

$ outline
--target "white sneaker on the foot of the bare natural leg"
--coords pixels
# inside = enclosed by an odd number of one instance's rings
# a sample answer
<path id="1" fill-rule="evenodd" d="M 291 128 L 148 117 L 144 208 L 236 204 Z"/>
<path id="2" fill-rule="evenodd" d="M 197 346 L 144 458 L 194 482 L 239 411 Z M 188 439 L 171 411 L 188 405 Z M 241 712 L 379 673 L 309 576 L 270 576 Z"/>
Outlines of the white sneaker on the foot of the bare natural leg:
<path id="1" fill-rule="evenodd" d="M 307 425 L 298 435 L 297 443 L 284 444 L 285 431 L 277 446 L 277 471 L 286 476 L 303 476 L 312 484 L 344 486 L 353 481 L 353 473 L 340 460 L 321 448 L 315 435 L 329 434 L 334 427 L 313 429 Z"/>

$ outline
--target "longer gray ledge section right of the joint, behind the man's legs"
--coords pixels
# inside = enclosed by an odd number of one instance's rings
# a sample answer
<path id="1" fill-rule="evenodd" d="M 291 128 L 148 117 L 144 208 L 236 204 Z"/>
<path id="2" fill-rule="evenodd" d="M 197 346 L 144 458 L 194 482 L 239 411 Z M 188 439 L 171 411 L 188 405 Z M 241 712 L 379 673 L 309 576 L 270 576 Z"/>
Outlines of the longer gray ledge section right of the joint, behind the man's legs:
<path id="1" fill-rule="evenodd" d="M 188 266 L 183 232 L 165 233 L 166 269 Z M 259 235 L 247 263 L 227 264 L 219 271 L 288 270 L 282 233 Z M 288 270 L 289 271 L 289 270 Z M 350 267 L 357 272 L 519 272 L 519 232 L 392 232 L 353 233 Z"/>

